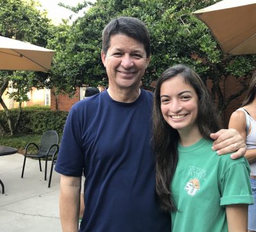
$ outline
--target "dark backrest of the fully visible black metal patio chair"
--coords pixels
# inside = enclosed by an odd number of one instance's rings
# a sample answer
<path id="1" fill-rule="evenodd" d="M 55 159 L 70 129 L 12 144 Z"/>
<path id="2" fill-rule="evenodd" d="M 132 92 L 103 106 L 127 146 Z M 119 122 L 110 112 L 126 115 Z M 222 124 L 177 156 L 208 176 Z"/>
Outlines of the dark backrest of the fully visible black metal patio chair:
<path id="1" fill-rule="evenodd" d="M 46 155 L 47 151 L 53 144 L 59 144 L 59 135 L 56 130 L 47 130 L 47 132 L 45 132 L 41 137 L 39 153 L 45 153 Z M 56 150 L 57 146 L 54 146 L 48 155 L 52 156 Z"/>

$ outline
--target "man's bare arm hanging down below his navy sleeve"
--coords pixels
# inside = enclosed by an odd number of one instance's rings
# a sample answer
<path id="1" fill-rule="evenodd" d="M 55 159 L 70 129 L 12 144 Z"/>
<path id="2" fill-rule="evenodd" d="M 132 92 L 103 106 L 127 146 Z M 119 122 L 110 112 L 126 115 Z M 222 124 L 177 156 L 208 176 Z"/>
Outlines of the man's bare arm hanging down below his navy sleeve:
<path id="1" fill-rule="evenodd" d="M 77 232 L 80 210 L 81 176 L 60 179 L 60 219 L 63 232 Z"/>

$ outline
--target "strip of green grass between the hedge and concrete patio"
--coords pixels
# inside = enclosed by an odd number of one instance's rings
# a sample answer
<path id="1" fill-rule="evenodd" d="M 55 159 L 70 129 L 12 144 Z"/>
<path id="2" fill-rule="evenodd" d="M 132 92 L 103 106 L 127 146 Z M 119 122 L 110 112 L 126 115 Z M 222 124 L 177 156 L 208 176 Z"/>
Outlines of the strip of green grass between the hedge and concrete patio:
<path id="1" fill-rule="evenodd" d="M 19 134 L 19 135 L 0 135 L 0 145 L 2 146 L 10 146 L 12 148 L 16 148 L 18 150 L 18 153 L 24 154 L 25 148 L 28 143 L 35 143 L 40 144 L 41 141 L 41 134 Z M 36 151 L 32 150 L 33 146 L 31 146 L 31 150 L 29 148 L 29 151 Z"/>

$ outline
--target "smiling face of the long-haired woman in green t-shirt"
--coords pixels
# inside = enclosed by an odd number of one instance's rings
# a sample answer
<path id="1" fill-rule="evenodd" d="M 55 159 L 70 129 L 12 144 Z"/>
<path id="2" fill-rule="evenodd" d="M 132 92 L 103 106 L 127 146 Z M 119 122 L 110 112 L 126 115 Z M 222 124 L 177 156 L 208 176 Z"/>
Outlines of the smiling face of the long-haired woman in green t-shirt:
<path id="1" fill-rule="evenodd" d="M 198 96 L 195 89 L 177 75 L 160 88 L 161 112 L 164 120 L 178 132 L 198 130 Z"/>

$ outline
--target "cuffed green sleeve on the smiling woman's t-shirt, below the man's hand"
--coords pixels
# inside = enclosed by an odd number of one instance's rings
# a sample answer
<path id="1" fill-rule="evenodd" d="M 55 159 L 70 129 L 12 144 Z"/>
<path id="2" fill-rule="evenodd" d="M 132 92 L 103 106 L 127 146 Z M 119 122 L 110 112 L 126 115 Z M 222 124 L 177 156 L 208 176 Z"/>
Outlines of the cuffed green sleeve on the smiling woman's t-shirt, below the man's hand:
<path id="1" fill-rule="evenodd" d="M 247 160 L 231 160 L 221 176 L 220 205 L 253 204 L 250 166 Z"/>

